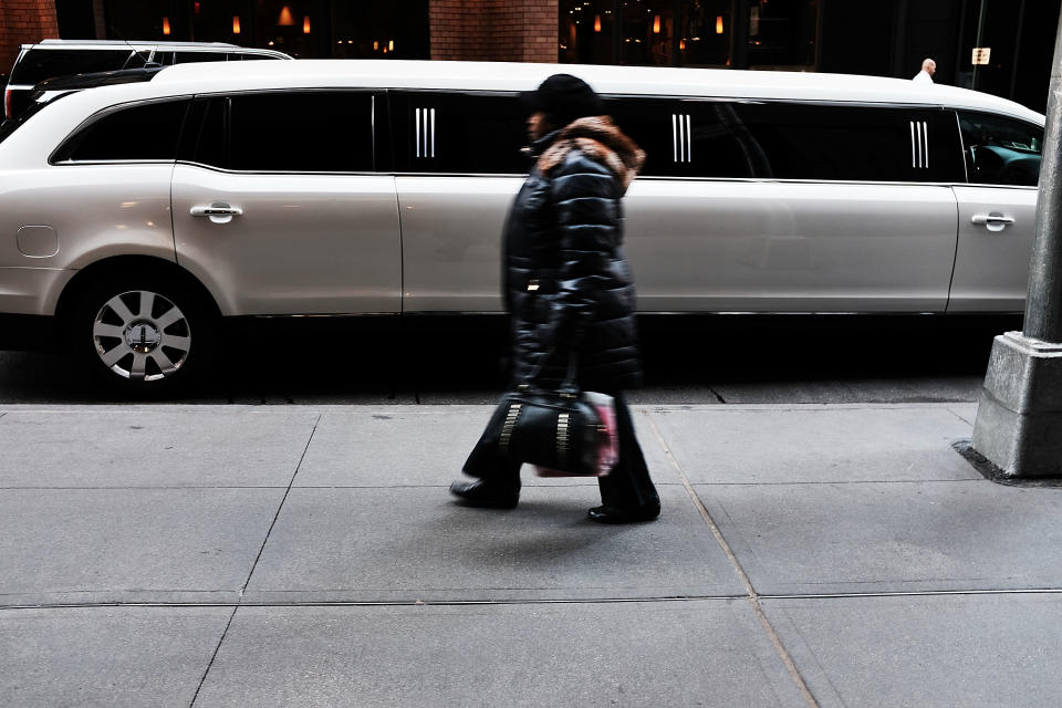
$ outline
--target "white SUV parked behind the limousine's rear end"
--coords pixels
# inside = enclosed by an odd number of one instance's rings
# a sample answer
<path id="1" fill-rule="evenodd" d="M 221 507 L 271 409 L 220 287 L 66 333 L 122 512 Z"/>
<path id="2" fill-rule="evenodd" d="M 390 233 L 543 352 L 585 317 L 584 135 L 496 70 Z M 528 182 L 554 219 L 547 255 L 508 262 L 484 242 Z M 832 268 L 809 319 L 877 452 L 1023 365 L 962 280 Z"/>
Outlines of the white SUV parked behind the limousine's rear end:
<path id="1" fill-rule="evenodd" d="M 220 42 L 124 42 L 112 40 L 43 40 L 23 44 L 3 92 L 4 117 L 30 105 L 34 86 L 56 76 L 70 76 L 187 62 L 291 59 L 283 52 Z"/>

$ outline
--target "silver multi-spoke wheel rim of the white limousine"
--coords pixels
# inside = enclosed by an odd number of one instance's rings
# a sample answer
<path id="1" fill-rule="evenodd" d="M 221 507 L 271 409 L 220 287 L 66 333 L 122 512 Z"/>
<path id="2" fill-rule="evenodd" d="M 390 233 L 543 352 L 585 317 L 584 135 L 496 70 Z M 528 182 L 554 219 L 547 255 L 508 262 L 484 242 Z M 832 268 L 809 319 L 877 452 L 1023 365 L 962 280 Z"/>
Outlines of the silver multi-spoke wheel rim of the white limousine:
<path id="1" fill-rule="evenodd" d="M 174 375 L 191 348 L 185 314 L 147 290 L 131 290 L 108 300 L 96 313 L 92 337 L 104 366 L 134 381 Z"/>

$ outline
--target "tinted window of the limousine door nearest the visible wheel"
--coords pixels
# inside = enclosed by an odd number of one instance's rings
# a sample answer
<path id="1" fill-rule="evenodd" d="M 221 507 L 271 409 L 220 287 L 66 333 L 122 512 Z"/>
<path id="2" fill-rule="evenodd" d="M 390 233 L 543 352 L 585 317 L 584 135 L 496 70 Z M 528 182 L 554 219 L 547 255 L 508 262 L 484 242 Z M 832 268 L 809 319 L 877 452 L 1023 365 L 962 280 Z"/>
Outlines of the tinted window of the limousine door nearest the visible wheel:
<path id="1" fill-rule="evenodd" d="M 228 110 L 228 148 L 217 150 L 220 113 L 208 115 L 209 122 L 204 124 L 207 147 L 198 162 L 253 171 L 373 169 L 371 94 L 350 91 L 240 94 L 229 98 Z"/>

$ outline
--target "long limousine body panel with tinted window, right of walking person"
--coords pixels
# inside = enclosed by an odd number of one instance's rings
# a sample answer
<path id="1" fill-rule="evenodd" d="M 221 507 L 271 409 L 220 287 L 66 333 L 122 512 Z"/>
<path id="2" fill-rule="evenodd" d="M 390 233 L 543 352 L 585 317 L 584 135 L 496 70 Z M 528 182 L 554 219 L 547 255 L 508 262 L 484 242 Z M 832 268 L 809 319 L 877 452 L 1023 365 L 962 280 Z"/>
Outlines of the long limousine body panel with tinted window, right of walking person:
<path id="1" fill-rule="evenodd" d="M 944 112 L 610 104 L 648 154 L 626 199 L 639 310 L 945 310 L 956 204 L 931 183 L 958 146 Z"/>

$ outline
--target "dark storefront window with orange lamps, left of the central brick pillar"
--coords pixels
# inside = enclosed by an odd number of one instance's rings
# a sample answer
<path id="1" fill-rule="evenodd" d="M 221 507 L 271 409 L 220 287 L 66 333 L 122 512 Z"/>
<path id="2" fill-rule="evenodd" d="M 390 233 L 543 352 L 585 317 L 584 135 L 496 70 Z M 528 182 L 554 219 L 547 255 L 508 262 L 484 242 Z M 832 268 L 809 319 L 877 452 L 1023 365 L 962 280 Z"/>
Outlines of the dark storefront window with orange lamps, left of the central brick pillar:
<path id="1" fill-rule="evenodd" d="M 429 59 L 428 0 L 104 0 L 107 38 L 229 42 L 296 59 Z"/>

